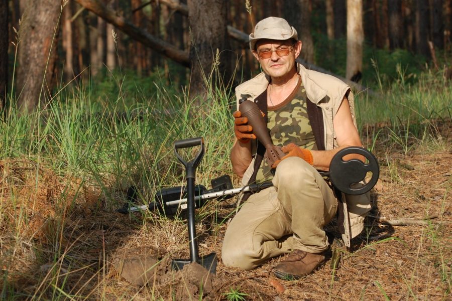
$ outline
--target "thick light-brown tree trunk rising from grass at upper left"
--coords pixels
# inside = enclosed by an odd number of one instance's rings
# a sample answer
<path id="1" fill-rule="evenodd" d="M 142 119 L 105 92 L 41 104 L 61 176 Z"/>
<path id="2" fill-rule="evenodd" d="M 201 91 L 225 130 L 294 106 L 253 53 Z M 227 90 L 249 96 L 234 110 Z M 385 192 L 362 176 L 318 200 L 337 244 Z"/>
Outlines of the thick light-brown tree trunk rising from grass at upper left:
<path id="1" fill-rule="evenodd" d="M 19 66 L 17 69 L 18 108 L 34 110 L 41 99 L 43 81 L 45 90 L 51 90 L 51 79 L 56 58 L 52 47 L 58 30 L 61 12 L 59 1 L 29 0 L 25 4 L 19 32 Z M 44 78 L 45 77 L 45 78 Z"/>

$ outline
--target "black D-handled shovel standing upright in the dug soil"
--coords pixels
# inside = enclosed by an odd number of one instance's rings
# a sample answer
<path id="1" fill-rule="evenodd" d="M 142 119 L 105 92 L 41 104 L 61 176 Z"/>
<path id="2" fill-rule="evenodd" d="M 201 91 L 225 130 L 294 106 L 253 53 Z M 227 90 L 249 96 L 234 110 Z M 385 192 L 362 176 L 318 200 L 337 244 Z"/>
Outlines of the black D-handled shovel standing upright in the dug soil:
<path id="1" fill-rule="evenodd" d="M 181 148 L 200 146 L 199 152 L 191 162 L 186 162 L 179 155 Z M 204 157 L 204 139 L 202 137 L 189 138 L 174 142 L 174 153 L 177 159 L 185 166 L 185 178 L 187 180 L 187 222 L 188 222 L 188 240 L 190 245 L 190 259 L 173 259 L 171 267 L 173 270 L 181 270 L 186 264 L 196 262 L 202 265 L 210 273 L 216 272 L 216 253 L 212 252 L 206 256 L 199 257 L 198 243 L 196 239 L 195 228 L 195 175 L 196 168 Z"/>

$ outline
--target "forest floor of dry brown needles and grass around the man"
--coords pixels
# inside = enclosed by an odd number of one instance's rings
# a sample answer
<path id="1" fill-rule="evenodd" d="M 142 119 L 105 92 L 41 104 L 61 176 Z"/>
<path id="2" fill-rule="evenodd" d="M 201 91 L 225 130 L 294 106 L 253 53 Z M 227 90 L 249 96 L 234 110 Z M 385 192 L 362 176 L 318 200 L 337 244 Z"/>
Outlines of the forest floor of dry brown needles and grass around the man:
<path id="1" fill-rule="evenodd" d="M 80 185 L 79 179 L 70 179 L 68 185 L 68 179 L 28 159 L 0 161 L 0 211 L 3 219 L 10 219 L 2 225 L 11 225 L 0 229 L 0 295 L 106 300 L 450 299 L 452 130 L 450 120 L 438 124 L 442 147 L 428 143 L 410 149 L 388 147 L 389 141 L 376 140 L 381 173 L 372 190 L 365 230 L 353 240 L 352 249 L 342 250 L 339 267 L 331 268 L 327 258 L 314 273 L 296 281 L 273 275 L 280 258 L 252 271 L 228 268 L 219 260 L 216 274 L 208 277 L 194 264 L 171 271 L 170 258 L 189 258 L 184 219 L 108 212 L 100 191 Z M 221 258 L 227 222 L 220 222 L 227 221 L 236 201 L 216 204 L 216 214 L 210 215 L 216 221 L 205 218 L 197 224 L 201 255 L 216 252 Z M 418 224 L 388 222 L 400 219 Z M 334 227 L 327 230 L 337 235 Z M 54 260 L 43 262 L 49 254 Z M 124 258 L 155 263 L 146 285 L 131 284 L 123 277 Z M 155 258 L 161 260 L 152 261 Z"/>

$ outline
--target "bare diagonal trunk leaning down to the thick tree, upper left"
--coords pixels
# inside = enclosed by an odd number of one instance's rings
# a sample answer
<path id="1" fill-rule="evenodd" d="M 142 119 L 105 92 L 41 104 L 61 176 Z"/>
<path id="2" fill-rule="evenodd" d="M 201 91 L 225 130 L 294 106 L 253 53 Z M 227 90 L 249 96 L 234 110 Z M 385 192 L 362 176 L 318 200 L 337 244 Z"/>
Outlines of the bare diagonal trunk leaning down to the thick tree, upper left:
<path id="1" fill-rule="evenodd" d="M 150 35 L 147 31 L 136 27 L 131 22 L 125 20 L 123 17 L 118 16 L 114 10 L 105 7 L 98 0 L 75 1 L 88 11 L 91 11 L 95 15 L 104 19 L 106 22 L 116 26 L 119 30 L 129 35 L 132 39 L 142 43 L 143 45 L 155 50 L 156 52 L 166 56 L 169 59 L 172 59 L 173 61 L 185 67 L 190 67 L 188 52 L 180 50 L 173 45 Z"/>

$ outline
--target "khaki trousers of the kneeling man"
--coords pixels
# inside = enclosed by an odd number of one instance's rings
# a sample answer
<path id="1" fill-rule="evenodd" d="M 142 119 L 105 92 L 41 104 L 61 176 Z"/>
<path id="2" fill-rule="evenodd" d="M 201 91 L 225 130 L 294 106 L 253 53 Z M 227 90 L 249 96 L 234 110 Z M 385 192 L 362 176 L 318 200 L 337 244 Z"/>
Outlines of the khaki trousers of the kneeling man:
<path id="1" fill-rule="evenodd" d="M 328 247 L 322 228 L 335 216 L 337 200 L 320 174 L 290 157 L 278 165 L 273 185 L 251 195 L 229 224 L 225 265 L 250 270 L 292 249 L 320 253 Z"/>

